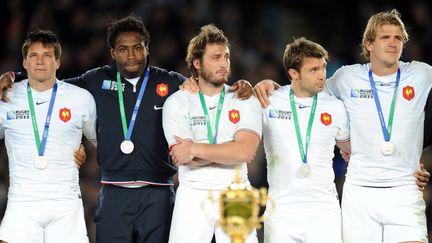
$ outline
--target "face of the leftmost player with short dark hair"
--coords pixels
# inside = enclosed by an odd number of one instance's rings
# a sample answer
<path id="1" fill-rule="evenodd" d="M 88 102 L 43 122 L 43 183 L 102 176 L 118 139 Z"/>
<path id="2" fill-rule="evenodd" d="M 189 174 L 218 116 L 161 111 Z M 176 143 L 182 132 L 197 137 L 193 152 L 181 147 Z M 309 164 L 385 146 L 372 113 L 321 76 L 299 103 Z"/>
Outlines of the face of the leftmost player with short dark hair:
<path id="1" fill-rule="evenodd" d="M 54 46 L 44 46 L 41 42 L 30 45 L 23 67 L 28 77 L 37 82 L 55 79 L 56 70 L 60 67 L 60 59 L 56 59 Z"/>

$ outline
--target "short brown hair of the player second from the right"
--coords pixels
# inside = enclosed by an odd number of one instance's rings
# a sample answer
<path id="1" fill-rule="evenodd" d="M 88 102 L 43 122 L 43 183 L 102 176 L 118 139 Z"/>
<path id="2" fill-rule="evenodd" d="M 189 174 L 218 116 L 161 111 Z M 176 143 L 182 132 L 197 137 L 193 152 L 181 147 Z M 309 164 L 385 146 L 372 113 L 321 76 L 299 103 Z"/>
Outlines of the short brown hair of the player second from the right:
<path id="1" fill-rule="evenodd" d="M 300 72 L 305 57 L 325 58 L 328 59 L 327 51 L 318 43 L 310 41 L 304 37 L 295 39 L 293 42 L 286 45 L 283 64 L 288 78 L 291 80 L 288 70 L 290 68 Z"/>

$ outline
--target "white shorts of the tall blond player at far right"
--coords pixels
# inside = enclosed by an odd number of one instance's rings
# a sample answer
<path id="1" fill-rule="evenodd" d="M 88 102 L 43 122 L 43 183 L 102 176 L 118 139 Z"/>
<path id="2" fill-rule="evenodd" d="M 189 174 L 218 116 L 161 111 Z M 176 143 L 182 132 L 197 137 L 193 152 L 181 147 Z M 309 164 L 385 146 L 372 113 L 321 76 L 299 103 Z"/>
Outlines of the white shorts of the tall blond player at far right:
<path id="1" fill-rule="evenodd" d="M 346 243 L 427 243 L 425 202 L 416 185 L 389 188 L 345 183 L 342 232 Z"/>

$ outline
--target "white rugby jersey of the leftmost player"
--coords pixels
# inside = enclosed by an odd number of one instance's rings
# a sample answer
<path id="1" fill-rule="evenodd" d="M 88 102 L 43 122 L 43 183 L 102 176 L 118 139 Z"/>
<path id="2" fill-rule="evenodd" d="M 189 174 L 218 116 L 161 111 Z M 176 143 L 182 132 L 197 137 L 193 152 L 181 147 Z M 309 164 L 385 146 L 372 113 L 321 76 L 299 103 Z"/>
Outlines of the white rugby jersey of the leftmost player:
<path id="1" fill-rule="evenodd" d="M 78 169 L 73 153 L 82 134 L 95 142 L 96 105 L 92 95 L 77 86 L 56 81 L 54 102 L 44 156 L 48 166 L 35 167 L 38 156 L 30 108 L 28 80 L 15 84 L 10 101 L 0 104 L 0 138 L 5 138 L 9 157 L 8 202 L 43 205 L 82 204 Z M 32 89 L 39 136 L 42 140 L 52 89 Z"/>

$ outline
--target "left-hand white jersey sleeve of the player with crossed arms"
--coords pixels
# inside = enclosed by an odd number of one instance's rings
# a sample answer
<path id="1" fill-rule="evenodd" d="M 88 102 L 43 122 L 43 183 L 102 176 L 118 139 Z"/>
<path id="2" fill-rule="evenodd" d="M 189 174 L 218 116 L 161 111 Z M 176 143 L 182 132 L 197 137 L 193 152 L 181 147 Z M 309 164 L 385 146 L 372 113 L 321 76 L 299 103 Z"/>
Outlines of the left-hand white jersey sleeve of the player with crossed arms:
<path id="1" fill-rule="evenodd" d="M 162 126 L 168 146 L 177 143 L 174 136 L 182 139 L 192 140 L 192 131 L 189 126 L 188 114 L 185 107 L 188 107 L 188 100 L 184 91 L 177 91 L 171 95 L 163 106 Z"/>

